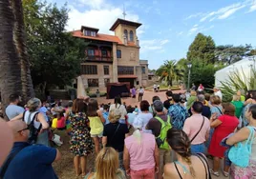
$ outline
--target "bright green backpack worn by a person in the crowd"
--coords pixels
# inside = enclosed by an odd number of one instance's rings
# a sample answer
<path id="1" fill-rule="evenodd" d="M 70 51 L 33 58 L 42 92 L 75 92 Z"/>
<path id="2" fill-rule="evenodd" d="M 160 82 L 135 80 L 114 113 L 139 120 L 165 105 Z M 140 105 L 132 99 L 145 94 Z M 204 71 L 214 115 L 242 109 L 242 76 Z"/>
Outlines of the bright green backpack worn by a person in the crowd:
<path id="1" fill-rule="evenodd" d="M 170 149 L 166 141 L 167 131 L 172 128 L 171 117 L 167 115 L 167 122 L 164 122 L 159 116 L 155 117 L 161 124 L 160 135 L 156 138 L 159 149 Z"/>

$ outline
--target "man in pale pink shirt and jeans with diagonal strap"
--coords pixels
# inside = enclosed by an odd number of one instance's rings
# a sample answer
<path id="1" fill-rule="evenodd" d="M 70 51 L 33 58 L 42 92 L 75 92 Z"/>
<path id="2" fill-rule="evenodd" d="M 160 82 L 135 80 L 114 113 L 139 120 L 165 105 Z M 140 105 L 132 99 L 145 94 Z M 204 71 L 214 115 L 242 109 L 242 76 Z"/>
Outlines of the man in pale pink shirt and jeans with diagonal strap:
<path id="1" fill-rule="evenodd" d="M 195 102 L 191 111 L 192 116 L 185 120 L 183 130 L 191 142 L 191 152 L 205 153 L 204 142 L 209 137 L 210 122 L 207 117 L 202 115 L 203 104 L 201 102 Z"/>

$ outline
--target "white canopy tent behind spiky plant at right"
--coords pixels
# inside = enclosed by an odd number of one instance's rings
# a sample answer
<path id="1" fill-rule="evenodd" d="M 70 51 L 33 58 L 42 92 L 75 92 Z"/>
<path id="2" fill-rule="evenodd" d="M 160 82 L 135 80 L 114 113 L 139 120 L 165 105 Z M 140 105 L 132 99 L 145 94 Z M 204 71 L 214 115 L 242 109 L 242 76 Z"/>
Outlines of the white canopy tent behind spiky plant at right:
<path id="1" fill-rule="evenodd" d="M 227 81 L 228 75 L 236 70 L 239 71 L 242 78 L 244 77 L 243 72 L 245 73 L 245 78 L 249 78 L 250 75 L 252 75 L 251 70 L 255 69 L 255 60 L 256 56 L 246 57 L 232 65 L 225 67 L 222 70 L 217 70 L 215 73 L 215 86 L 221 87 L 221 82 L 224 83 L 225 81 Z"/>

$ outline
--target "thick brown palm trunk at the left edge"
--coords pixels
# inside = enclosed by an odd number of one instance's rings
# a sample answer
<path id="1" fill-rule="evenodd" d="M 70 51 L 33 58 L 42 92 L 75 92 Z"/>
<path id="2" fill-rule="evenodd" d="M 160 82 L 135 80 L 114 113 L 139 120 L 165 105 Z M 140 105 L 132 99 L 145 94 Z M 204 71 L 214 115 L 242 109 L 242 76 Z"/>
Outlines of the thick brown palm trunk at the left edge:
<path id="1" fill-rule="evenodd" d="M 24 101 L 34 96 L 25 45 L 21 0 L 0 0 L 0 91 L 4 107 L 11 93 Z"/>

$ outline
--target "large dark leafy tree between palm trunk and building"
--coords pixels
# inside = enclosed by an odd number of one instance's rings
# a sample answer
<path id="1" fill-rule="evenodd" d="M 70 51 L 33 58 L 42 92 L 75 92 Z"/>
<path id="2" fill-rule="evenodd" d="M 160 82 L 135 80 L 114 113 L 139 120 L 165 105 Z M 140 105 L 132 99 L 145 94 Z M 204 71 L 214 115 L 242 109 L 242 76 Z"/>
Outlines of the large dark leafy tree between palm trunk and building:
<path id="1" fill-rule="evenodd" d="M 23 0 L 27 46 L 32 63 L 32 82 L 44 90 L 71 84 L 80 70 L 86 43 L 65 30 L 66 5 Z"/>

